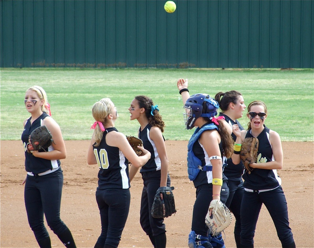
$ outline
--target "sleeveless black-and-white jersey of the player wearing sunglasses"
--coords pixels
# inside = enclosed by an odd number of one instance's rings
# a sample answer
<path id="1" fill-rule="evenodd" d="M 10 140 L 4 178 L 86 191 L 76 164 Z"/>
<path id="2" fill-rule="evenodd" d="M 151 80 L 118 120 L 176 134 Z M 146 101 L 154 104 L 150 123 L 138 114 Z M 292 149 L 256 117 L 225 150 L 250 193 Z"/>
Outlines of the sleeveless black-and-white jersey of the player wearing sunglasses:
<path id="1" fill-rule="evenodd" d="M 246 138 L 253 137 L 251 129 L 247 131 Z M 264 130 L 257 136 L 258 151 L 257 163 L 274 161 L 272 146 L 269 143 L 269 129 L 264 125 Z M 251 174 L 244 173 L 244 188 L 251 190 L 272 190 L 281 185 L 281 179 L 277 175 L 277 170 L 254 168 Z M 249 190 L 248 190 L 249 189 Z"/>

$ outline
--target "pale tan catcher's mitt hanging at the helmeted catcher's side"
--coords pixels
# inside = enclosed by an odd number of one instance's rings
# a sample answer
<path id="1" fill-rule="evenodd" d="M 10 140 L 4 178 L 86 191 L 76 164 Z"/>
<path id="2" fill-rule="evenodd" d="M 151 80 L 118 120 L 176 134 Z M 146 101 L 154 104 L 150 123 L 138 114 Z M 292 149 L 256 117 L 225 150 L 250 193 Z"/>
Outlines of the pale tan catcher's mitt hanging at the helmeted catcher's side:
<path id="1" fill-rule="evenodd" d="M 211 216 L 209 216 L 210 209 L 212 209 Z M 210 202 L 205 223 L 211 234 L 218 235 L 230 225 L 231 219 L 231 212 L 224 203 L 219 200 Z"/>

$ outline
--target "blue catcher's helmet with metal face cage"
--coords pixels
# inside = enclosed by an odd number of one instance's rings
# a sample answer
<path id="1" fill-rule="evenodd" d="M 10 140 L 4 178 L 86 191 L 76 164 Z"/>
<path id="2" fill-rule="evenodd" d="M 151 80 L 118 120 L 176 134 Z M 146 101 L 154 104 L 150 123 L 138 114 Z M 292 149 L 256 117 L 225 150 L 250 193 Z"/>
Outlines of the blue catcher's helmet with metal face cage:
<path id="1" fill-rule="evenodd" d="M 197 118 L 214 117 L 219 104 L 209 95 L 198 93 L 190 96 L 183 108 L 186 111 L 183 113 L 186 129 L 192 129 Z"/>

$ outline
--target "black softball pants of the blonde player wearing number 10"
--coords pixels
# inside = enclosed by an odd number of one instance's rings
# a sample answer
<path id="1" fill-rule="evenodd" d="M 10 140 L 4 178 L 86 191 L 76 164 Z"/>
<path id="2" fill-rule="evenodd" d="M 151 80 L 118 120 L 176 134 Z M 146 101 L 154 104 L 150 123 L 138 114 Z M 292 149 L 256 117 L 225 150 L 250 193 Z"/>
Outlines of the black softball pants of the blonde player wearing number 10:
<path id="1" fill-rule="evenodd" d="M 130 209 L 130 189 L 96 190 L 101 234 L 96 243 L 118 247 Z"/>

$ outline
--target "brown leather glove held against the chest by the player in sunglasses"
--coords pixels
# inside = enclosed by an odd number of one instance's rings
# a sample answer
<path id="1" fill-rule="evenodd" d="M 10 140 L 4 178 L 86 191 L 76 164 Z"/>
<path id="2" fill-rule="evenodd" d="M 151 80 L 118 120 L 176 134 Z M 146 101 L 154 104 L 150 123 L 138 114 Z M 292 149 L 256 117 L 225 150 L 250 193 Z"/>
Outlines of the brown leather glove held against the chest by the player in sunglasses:
<path id="1" fill-rule="evenodd" d="M 258 139 L 251 137 L 245 138 L 241 144 L 240 157 L 246 168 L 246 171 L 251 174 L 253 168 L 250 167 L 251 163 L 257 161 Z"/>

